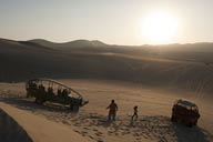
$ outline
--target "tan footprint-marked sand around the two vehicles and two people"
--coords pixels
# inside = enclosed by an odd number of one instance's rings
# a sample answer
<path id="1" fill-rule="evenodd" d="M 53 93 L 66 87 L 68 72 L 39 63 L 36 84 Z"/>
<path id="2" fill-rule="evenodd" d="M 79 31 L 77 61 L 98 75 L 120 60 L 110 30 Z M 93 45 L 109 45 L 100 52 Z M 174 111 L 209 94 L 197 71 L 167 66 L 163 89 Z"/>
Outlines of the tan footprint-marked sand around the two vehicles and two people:
<path id="1" fill-rule="evenodd" d="M 1 83 L 0 108 L 11 114 L 29 136 L 38 142 L 62 139 L 73 142 L 213 141 L 212 100 L 205 98 L 209 94 L 201 98 L 176 88 L 165 90 L 112 80 L 60 81 L 89 99 L 89 104 L 81 108 L 79 113 L 50 102 L 36 104 L 33 99 L 24 98 L 24 83 Z M 186 128 L 170 122 L 172 104 L 180 98 L 192 100 L 199 105 L 201 119 L 197 126 Z M 115 122 L 108 121 L 105 108 L 111 99 L 119 105 Z M 134 105 L 139 106 L 139 119 L 131 121 Z"/>

